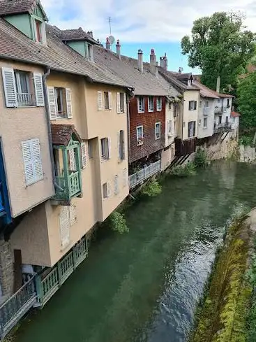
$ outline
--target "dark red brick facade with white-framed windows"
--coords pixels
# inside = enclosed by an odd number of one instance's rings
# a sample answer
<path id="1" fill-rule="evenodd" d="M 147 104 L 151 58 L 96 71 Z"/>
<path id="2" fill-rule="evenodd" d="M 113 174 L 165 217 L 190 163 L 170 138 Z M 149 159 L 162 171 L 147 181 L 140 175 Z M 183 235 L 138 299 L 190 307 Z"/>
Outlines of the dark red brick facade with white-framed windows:
<path id="1" fill-rule="evenodd" d="M 144 97 L 144 113 L 138 113 L 137 97 L 129 102 L 130 110 L 130 162 L 151 155 L 165 146 L 165 97 L 162 99 L 162 111 L 156 111 L 156 99 L 153 97 L 153 112 L 148 110 L 148 97 Z M 161 123 L 161 137 L 155 138 L 155 124 Z M 137 146 L 137 126 L 143 126 L 143 145 Z"/>

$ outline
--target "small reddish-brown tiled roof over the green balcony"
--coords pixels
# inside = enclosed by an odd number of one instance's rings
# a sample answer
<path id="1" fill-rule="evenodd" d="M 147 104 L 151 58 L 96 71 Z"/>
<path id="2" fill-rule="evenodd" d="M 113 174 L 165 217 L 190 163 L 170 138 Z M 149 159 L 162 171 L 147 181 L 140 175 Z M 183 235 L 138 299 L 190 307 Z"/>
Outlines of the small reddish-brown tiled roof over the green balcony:
<path id="1" fill-rule="evenodd" d="M 78 141 L 82 141 L 77 133 L 74 124 L 51 124 L 52 144 L 67 146 L 74 133 Z"/>

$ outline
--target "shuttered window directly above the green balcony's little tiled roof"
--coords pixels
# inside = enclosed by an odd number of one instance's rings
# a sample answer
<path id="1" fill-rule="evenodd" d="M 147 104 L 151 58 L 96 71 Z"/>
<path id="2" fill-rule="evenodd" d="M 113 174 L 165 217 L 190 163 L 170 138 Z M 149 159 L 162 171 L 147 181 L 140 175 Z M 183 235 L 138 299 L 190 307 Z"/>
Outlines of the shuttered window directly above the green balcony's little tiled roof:
<path id="1" fill-rule="evenodd" d="M 72 99 L 71 90 L 61 87 L 47 87 L 50 119 L 71 119 Z"/>

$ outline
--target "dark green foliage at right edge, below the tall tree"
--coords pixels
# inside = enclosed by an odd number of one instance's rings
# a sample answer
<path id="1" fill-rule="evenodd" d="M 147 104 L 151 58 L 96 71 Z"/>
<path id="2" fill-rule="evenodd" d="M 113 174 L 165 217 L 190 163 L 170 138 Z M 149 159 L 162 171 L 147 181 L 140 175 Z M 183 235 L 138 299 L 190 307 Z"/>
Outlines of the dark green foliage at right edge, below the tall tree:
<path id="1" fill-rule="evenodd" d="M 237 94 L 241 126 L 256 127 L 256 72 L 240 80 Z"/>

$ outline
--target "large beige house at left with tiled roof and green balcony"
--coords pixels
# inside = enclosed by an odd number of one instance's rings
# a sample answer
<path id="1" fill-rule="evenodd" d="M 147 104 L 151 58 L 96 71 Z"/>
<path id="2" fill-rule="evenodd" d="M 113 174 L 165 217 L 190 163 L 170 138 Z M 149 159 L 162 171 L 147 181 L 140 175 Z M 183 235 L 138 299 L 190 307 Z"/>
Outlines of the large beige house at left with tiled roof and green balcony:
<path id="1" fill-rule="evenodd" d="M 40 42 L 0 18 L 0 135 L 11 213 L 24 213 L 11 248 L 53 266 L 128 195 L 128 84 L 93 62 L 92 38 L 86 59 L 44 29 Z"/>

